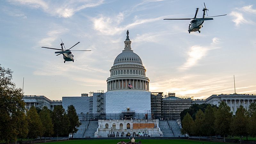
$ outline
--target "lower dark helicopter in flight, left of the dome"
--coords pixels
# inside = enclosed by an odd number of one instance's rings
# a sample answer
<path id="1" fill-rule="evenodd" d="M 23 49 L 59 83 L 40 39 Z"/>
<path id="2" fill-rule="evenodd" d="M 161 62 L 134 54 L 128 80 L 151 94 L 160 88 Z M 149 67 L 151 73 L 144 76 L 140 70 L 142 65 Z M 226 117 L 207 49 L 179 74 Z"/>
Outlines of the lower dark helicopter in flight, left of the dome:
<path id="1" fill-rule="evenodd" d="M 76 44 L 79 44 L 79 43 L 80 43 L 80 42 L 78 42 L 78 43 L 76 43 Z M 76 44 L 73 45 L 72 47 L 76 46 Z M 42 48 L 53 49 L 53 50 L 60 50 L 59 52 L 55 52 L 55 53 L 59 53 L 59 54 L 57 54 L 56 56 L 58 56 L 58 55 L 60 55 L 60 54 L 63 55 L 64 63 L 65 63 L 66 61 L 73 61 L 73 62 L 74 62 L 74 55 L 72 54 L 71 51 L 76 51 L 76 50 L 70 50 L 72 47 L 67 50 L 67 49 L 65 48 L 65 45 L 64 45 L 64 43 L 62 42 L 62 40 L 61 40 L 61 44 L 60 44 L 60 45 L 61 45 L 61 49 L 55 49 L 55 48 L 50 48 L 50 47 L 42 47 Z M 63 46 L 64 46 L 65 50 L 63 49 Z M 82 50 L 82 51 L 91 51 L 91 50 Z"/>

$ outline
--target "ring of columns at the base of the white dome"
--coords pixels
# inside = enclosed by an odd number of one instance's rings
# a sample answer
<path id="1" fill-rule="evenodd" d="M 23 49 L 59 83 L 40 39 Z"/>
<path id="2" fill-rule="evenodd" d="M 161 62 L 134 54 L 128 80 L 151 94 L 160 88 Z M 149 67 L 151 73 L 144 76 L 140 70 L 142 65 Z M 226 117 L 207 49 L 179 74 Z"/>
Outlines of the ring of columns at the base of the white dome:
<path id="1" fill-rule="evenodd" d="M 120 79 L 108 82 L 108 91 L 129 89 L 129 84 L 132 85 L 131 89 L 147 90 L 149 91 L 149 82 L 139 79 Z"/>

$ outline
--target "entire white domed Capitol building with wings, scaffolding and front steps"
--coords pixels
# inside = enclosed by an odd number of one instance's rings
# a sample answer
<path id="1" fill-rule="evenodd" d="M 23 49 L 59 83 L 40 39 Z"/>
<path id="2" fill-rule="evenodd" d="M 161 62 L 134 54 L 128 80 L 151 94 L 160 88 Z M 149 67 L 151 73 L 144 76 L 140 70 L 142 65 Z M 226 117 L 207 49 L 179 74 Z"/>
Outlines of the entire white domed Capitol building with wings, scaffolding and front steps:
<path id="1" fill-rule="evenodd" d="M 180 112 L 192 104 L 218 106 L 225 101 L 235 114 L 240 105 L 248 109 L 251 103 L 256 102 L 256 94 L 215 94 L 199 100 L 176 97 L 175 93 L 164 95 L 163 92 L 150 92 L 146 68 L 139 55 L 132 50 L 128 30 L 126 34 L 124 49 L 116 56 L 109 70 L 107 92 L 83 93 L 79 97 L 62 97 L 62 100 L 27 95 L 23 97 L 25 107 L 47 106 L 53 110 L 54 106 L 62 105 L 67 110 L 68 105 L 74 105 L 82 122 L 76 137 L 121 137 L 127 134 L 177 137 L 180 136 Z"/>

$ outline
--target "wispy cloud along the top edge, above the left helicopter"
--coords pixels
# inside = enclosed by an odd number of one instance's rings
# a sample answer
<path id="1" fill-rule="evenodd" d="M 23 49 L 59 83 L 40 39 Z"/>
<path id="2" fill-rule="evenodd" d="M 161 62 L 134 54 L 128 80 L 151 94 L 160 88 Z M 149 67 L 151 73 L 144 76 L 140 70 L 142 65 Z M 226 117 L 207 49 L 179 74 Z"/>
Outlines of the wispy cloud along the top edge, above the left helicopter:
<path id="1" fill-rule="evenodd" d="M 90 2 L 91 1 L 91 2 Z M 72 17 L 76 12 L 89 7 L 96 7 L 104 4 L 104 0 L 88 0 L 88 1 L 74 1 L 70 0 L 62 2 L 61 4 L 54 4 L 54 1 L 45 2 L 43 0 L 14 0 L 10 1 L 12 4 L 22 4 L 35 9 L 43 9 L 44 12 L 52 16 L 59 16 L 63 18 Z M 85 4 L 84 4 L 85 3 Z"/>

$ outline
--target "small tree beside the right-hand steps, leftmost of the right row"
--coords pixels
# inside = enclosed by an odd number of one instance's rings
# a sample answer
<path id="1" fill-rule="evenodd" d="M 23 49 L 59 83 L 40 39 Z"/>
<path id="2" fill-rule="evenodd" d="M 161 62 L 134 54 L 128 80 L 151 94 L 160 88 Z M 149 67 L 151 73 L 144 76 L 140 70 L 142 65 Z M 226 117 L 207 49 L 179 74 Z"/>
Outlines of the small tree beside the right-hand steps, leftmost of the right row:
<path id="1" fill-rule="evenodd" d="M 189 138 L 189 135 L 191 135 L 193 132 L 192 128 L 194 125 L 194 121 L 188 113 L 184 116 L 183 120 L 181 121 L 181 125 L 182 125 L 181 134 L 188 134 L 188 138 Z"/>

